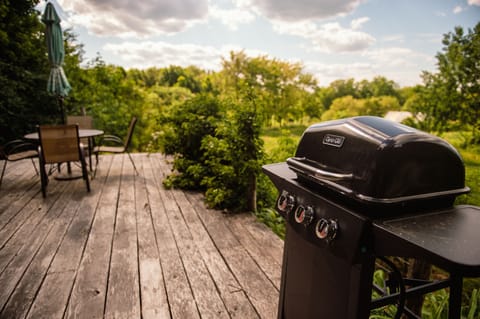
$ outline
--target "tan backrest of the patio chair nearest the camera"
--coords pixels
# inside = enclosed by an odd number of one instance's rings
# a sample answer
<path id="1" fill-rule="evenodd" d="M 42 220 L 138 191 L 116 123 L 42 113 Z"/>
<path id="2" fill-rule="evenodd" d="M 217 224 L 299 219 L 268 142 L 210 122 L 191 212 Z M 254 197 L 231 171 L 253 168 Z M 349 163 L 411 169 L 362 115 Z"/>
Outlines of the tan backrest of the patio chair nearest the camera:
<path id="1" fill-rule="evenodd" d="M 80 160 L 78 125 L 42 125 L 38 127 L 40 156 L 45 164 Z"/>

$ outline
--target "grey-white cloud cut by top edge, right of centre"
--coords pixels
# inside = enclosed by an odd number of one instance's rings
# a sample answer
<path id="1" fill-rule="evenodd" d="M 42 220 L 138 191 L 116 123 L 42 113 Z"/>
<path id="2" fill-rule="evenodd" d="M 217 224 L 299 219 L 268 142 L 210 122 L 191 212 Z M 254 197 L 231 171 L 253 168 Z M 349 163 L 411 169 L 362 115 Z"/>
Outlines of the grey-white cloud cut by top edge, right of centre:
<path id="1" fill-rule="evenodd" d="M 322 19 L 352 12 L 362 0 L 236 0 L 239 6 L 255 9 L 276 20 Z"/>

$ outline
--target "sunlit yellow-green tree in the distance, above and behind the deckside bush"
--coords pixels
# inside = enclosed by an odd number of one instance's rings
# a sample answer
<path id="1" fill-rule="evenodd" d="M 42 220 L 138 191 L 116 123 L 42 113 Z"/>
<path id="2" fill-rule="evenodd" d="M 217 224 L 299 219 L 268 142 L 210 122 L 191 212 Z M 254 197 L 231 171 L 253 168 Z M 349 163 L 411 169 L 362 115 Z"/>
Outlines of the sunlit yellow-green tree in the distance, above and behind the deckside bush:
<path id="1" fill-rule="evenodd" d="M 313 76 L 302 73 L 298 63 L 267 56 L 250 58 L 243 51 L 231 52 L 230 59 L 223 60 L 220 76 L 225 95 L 235 100 L 246 95 L 255 97 L 257 111 L 265 125 L 270 125 L 271 119 L 285 123 L 300 118 L 307 107 L 310 114 L 318 110 L 312 106 L 316 81 Z"/>

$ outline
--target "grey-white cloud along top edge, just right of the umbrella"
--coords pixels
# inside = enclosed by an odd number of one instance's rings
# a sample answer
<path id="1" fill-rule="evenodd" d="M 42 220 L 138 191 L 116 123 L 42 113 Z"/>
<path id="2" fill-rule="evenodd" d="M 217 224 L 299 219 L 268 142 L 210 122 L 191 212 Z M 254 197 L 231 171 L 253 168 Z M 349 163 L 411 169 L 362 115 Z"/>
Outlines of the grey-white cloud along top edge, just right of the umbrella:
<path id="1" fill-rule="evenodd" d="M 208 0 L 58 0 L 70 23 L 101 36 L 179 32 L 207 17 Z"/>

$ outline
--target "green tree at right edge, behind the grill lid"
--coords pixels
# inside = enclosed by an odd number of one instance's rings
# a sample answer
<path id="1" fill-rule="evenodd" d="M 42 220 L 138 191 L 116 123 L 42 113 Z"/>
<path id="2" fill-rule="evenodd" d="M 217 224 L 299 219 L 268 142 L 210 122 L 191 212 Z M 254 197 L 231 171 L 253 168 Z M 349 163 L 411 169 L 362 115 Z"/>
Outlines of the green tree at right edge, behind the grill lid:
<path id="1" fill-rule="evenodd" d="M 437 73 L 423 72 L 424 88 L 413 111 L 426 115 L 436 131 L 469 129 L 480 142 L 480 23 L 473 30 L 456 27 L 444 35 Z"/>

